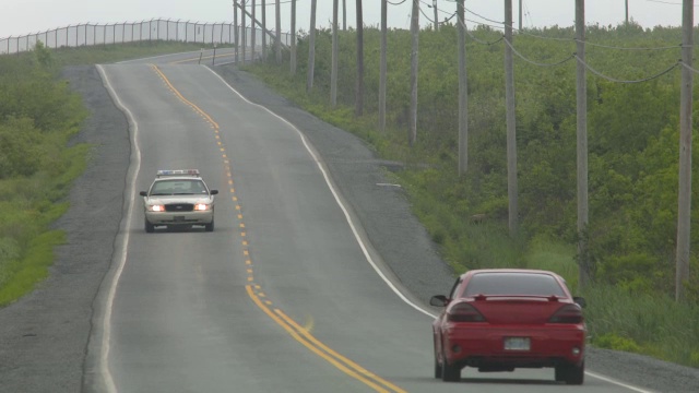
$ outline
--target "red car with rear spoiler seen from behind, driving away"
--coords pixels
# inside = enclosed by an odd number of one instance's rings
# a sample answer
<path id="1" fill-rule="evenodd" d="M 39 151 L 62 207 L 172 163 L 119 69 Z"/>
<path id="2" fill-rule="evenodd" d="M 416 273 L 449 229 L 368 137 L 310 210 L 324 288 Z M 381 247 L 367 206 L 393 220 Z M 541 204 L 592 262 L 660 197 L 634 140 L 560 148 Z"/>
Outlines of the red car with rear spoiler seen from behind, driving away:
<path id="1" fill-rule="evenodd" d="M 582 384 L 584 303 L 553 272 L 466 272 L 449 296 L 430 299 L 445 307 L 433 323 L 435 378 L 459 381 L 464 367 L 482 372 L 552 367 L 556 381 Z"/>

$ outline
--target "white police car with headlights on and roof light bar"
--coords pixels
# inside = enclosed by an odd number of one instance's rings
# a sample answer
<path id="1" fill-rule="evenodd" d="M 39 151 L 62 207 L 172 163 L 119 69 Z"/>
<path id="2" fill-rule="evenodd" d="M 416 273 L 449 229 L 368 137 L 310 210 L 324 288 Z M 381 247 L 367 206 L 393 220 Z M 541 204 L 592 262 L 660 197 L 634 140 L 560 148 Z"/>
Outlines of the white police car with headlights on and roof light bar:
<path id="1" fill-rule="evenodd" d="M 145 231 L 156 226 L 191 228 L 203 226 L 214 230 L 214 195 L 198 169 L 158 170 L 147 191 L 141 191 Z"/>

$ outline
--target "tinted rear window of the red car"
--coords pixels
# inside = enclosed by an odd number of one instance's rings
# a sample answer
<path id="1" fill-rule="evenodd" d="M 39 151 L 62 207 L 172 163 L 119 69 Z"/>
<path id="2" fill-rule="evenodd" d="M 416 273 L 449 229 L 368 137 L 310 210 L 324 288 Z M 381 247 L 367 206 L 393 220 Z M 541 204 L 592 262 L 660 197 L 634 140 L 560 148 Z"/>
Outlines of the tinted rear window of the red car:
<path id="1" fill-rule="evenodd" d="M 469 281 L 464 296 L 532 295 L 567 297 L 558 281 L 541 273 L 477 273 Z"/>

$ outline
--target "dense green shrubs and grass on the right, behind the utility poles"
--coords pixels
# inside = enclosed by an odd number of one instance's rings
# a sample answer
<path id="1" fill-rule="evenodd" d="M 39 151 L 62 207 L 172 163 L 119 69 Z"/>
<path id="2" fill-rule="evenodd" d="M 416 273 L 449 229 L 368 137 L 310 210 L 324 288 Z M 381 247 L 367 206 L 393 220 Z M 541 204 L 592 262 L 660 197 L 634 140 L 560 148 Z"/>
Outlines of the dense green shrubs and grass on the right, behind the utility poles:
<path id="1" fill-rule="evenodd" d="M 590 26 L 589 64 L 616 80 L 659 75 L 680 58 L 680 28 Z M 674 301 L 677 222 L 679 68 L 643 83 L 588 73 L 589 241 L 593 284 L 578 288 L 576 62 L 538 67 L 516 58 L 521 236 L 508 234 L 505 72 L 501 32 L 487 26 L 466 39 L 469 168 L 457 172 L 457 32 L 445 25 L 419 36 L 418 135 L 410 146 L 411 34 L 388 34 L 387 130 L 378 127 L 380 32 L 365 28 L 365 107 L 354 116 L 356 38 L 340 32 L 337 106 L 330 106 L 331 32 L 316 40 L 315 81 L 306 91 L 308 37 L 298 41 L 296 75 L 269 61 L 246 70 L 299 107 L 351 131 L 384 158 L 389 172 L 457 273 L 477 267 L 545 269 L 588 299 L 591 343 L 699 367 L 699 200 L 695 193 L 689 300 Z M 576 51 L 572 28 L 528 31 L 516 50 L 537 63 Z M 488 44 L 491 43 L 491 44 Z M 618 48 L 659 48 L 624 50 Z M 695 102 L 697 100 L 695 94 Z M 695 104 L 696 105 L 696 104 Z M 697 129 L 697 117 L 695 117 Z M 699 152 L 695 139 L 694 152 Z M 695 153 L 696 155 L 696 153 Z M 694 159 L 694 183 L 699 167 Z M 445 288 L 447 290 L 448 288 Z"/>

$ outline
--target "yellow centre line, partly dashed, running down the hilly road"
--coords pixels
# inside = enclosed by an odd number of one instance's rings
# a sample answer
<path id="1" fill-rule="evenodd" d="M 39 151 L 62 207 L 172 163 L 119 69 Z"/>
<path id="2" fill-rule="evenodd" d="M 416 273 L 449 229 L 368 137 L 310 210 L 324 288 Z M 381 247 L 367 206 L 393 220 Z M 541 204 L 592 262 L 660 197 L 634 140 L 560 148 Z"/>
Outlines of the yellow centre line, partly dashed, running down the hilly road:
<path id="1" fill-rule="evenodd" d="M 151 68 L 161 76 L 161 79 L 167 85 L 167 87 L 182 103 L 188 105 L 197 114 L 199 114 L 202 118 L 204 118 L 204 120 L 206 122 L 209 122 L 209 124 L 214 129 L 215 136 L 216 136 L 216 140 L 217 140 L 218 146 L 221 147 L 221 151 L 225 152 L 225 148 L 223 146 L 223 142 L 221 141 L 221 138 L 220 138 L 220 134 L 218 134 L 218 131 L 220 131 L 218 123 L 216 123 L 211 116 L 209 116 L 206 112 L 204 112 L 201 108 L 199 108 L 192 102 L 190 102 L 187 98 L 185 98 L 185 96 L 182 96 L 179 93 L 179 91 L 177 91 L 177 88 L 175 88 L 175 86 L 170 83 L 170 81 L 165 76 L 165 74 L 155 64 L 151 64 Z M 228 174 L 228 177 L 229 177 L 228 182 L 233 186 L 233 176 L 230 175 L 229 164 L 228 164 L 227 158 L 225 157 L 225 154 L 224 154 L 224 160 L 225 160 L 227 174 Z M 233 187 L 230 188 L 230 192 L 235 193 L 235 190 L 233 189 Z M 242 219 L 242 214 L 240 213 L 240 206 L 237 204 L 237 198 L 235 196 L 235 194 L 234 194 L 233 199 L 234 199 L 234 202 L 236 203 L 236 211 L 238 212 L 238 219 L 241 221 Z M 245 224 L 242 224 L 242 222 L 240 223 L 240 228 L 245 228 Z M 252 261 L 250 260 L 250 255 L 249 255 L 250 253 L 248 252 L 248 249 L 247 249 L 248 241 L 245 239 L 245 231 L 240 233 L 240 236 L 242 237 L 242 245 L 244 245 L 244 247 L 246 247 L 246 249 L 244 250 L 244 254 L 246 257 L 246 261 L 245 262 L 246 262 L 247 271 L 248 271 L 248 282 L 252 283 L 253 282 Z M 270 300 L 264 300 L 263 301 L 263 300 L 260 299 L 261 297 L 264 297 L 264 294 L 260 290 L 259 286 L 253 285 L 253 284 L 249 284 L 249 285 L 246 285 L 246 290 L 248 293 L 248 296 L 250 296 L 250 299 L 252 299 L 252 301 L 260 308 L 260 310 L 262 310 L 265 314 L 268 314 L 280 326 L 282 326 L 292 337 L 294 337 L 294 340 L 299 342 L 301 345 L 304 345 L 306 348 L 308 348 L 313 354 L 320 356 L 321 358 L 323 358 L 324 360 L 327 360 L 328 362 L 330 362 L 331 365 L 336 367 L 342 372 L 344 372 L 347 376 L 350 376 L 350 377 L 352 377 L 352 378 L 365 383 L 366 385 L 368 385 L 369 388 L 374 389 L 377 392 L 381 392 L 381 393 L 391 393 L 391 392 L 405 393 L 405 391 L 402 390 L 401 388 L 399 388 L 399 386 L 394 385 L 393 383 L 382 379 L 381 377 L 368 371 L 364 367 L 362 367 L 362 366 L 357 365 L 356 362 L 352 361 L 351 359 L 340 355 L 339 353 L 336 353 L 335 350 L 333 350 L 332 348 L 330 348 L 325 344 L 321 343 L 318 338 L 316 338 L 313 335 L 310 334 L 310 327 L 304 327 L 304 326 L 299 325 L 296 321 L 294 321 L 292 318 L 286 315 L 286 313 L 284 313 L 280 309 L 276 309 L 276 308 L 272 309 L 270 307 L 270 305 L 272 305 L 272 302 Z"/>

